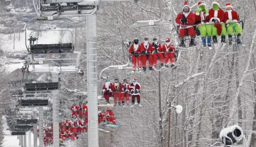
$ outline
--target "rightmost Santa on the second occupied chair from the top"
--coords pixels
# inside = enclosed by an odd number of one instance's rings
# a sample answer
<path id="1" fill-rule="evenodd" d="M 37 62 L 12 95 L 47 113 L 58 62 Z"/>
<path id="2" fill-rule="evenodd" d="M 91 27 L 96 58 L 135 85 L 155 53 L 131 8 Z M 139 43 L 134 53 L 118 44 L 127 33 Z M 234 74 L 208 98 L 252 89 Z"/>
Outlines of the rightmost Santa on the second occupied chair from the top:
<path id="1" fill-rule="evenodd" d="M 165 67 L 169 68 L 169 59 L 171 60 L 171 67 L 174 67 L 175 60 L 174 60 L 174 54 L 175 54 L 175 47 L 173 44 L 171 44 L 171 39 L 166 38 L 165 39 L 165 44 L 162 47 L 163 52 L 165 53 Z"/>

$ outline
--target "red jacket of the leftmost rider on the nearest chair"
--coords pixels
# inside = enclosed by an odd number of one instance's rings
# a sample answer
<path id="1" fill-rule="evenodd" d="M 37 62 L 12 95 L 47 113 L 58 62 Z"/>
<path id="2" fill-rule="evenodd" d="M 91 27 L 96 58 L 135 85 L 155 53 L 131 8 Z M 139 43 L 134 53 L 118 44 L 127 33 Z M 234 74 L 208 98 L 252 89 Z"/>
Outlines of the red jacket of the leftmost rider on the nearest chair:
<path id="1" fill-rule="evenodd" d="M 181 22 L 181 19 L 183 18 L 183 14 L 185 15 L 186 19 L 187 19 L 187 23 L 182 23 Z M 177 15 L 177 18 L 175 19 L 176 23 L 178 23 L 179 25 L 182 25 L 182 26 L 188 26 L 187 28 L 191 28 L 193 26 L 189 26 L 189 25 L 194 25 L 195 22 L 196 22 L 196 18 L 195 18 L 195 14 L 193 12 L 188 12 L 188 13 L 185 13 L 185 12 L 181 12 Z M 180 27 L 180 28 L 183 28 L 183 27 Z"/>

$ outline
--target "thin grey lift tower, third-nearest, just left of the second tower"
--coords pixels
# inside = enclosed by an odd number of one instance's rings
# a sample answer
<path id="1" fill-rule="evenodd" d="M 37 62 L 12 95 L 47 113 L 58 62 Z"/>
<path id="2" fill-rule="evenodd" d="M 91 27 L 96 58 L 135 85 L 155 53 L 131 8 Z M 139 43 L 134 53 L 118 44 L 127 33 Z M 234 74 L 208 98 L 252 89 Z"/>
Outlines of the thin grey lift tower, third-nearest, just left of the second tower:
<path id="1" fill-rule="evenodd" d="M 44 108 L 39 107 L 39 147 L 44 147 Z"/>

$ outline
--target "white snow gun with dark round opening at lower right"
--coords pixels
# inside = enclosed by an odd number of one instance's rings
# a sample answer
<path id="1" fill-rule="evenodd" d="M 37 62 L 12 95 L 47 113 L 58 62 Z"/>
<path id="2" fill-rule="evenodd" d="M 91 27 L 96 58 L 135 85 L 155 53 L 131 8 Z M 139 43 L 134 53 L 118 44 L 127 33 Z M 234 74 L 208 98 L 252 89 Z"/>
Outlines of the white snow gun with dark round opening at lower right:
<path id="1" fill-rule="evenodd" d="M 222 142 L 226 142 L 226 145 L 232 145 L 233 143 L 241 141 L 243 138 L 243 130 L 238 125 L 223 128 L 220 132 L 220 139 Z M 231 144 L 227 144 L 228 142 Z"/>

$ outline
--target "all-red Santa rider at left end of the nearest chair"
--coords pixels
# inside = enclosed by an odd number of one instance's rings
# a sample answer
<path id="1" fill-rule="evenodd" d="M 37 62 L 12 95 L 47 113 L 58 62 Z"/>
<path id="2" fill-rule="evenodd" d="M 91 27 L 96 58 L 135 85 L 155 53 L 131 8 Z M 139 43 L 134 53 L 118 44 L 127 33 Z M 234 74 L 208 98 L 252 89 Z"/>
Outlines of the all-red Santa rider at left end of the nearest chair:
<path id="1" fill-rule="evenodd" d="M 184 44 L 184 37 L 187 30 L 188 30 L 188 35 L 191 37 L 189 46 L 196 46 L 196 43 L 195 43 L 196 34 L 193 26 L 196 22 L 196 19 L 195 19 L 195 14 L 190 11 L 190 7 L 188 6 L 187 1 L 185 1 L 183 5 L 183 11 L 177 15 L 177 18 L 175 19 L 175 21 L 180 25 L 179 27 L 180 45 L 179 46 L 186 47 Z"/>

